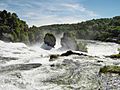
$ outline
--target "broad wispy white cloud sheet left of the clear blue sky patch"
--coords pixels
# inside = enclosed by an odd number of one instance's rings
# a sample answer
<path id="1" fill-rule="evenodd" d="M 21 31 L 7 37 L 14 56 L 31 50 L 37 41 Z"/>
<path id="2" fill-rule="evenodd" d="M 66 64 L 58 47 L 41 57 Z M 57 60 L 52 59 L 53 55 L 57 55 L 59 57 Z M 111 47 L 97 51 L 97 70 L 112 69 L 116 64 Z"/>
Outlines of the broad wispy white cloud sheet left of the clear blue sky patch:
<path id="1" fill-rule="evenodd" d="M 95 12 L 74 1 L 70 3 L 60 0 L 58 3 L 50 0 L 15 0 L 12 3 L 13 1 L 0 3 L 0 10 L 16 12 L 29 26 L 77 23 L 98 17 Z"/>

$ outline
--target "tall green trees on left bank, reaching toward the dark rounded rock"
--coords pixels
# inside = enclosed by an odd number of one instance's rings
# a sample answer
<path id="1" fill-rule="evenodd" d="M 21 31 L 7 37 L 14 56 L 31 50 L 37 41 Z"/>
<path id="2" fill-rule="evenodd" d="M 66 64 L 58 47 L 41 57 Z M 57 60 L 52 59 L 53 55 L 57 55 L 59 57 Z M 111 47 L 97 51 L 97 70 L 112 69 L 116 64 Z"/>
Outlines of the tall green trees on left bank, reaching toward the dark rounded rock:
<path id="1" fill-rule="evenodd" d="M 0 39 L 3 41 L 23 42 L 32 44 L 41 40 L 41 33 L 33 26 L 28 28 L 25 21 L 20 20 L 16 13 L 0 11 Z"/>

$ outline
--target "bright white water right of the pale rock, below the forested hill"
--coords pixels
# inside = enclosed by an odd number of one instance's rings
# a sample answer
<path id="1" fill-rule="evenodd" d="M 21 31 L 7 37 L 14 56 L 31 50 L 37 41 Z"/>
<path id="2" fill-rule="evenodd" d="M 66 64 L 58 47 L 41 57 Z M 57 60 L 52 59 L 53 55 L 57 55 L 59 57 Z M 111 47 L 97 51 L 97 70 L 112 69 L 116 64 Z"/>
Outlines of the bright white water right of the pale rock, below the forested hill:
<path id="1" fill-rule="evenodd" d="M 88 41 L 88 53 L 90 55 L 102 56 L 102 55 L 112 55 L 118 54 L 118 48 L 120 48 L 119 44 L 115 43 L 105 43 L 105 42 L 96 42 L 96 41 Z"/>

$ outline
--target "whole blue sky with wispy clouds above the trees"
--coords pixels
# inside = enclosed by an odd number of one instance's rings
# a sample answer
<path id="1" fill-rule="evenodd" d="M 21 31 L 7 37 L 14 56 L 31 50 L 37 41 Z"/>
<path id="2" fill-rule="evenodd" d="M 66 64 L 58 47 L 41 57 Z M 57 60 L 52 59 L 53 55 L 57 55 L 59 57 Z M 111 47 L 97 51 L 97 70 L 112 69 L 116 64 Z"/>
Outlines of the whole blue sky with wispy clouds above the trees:
<path id="1" fill-rule="evenodd" d="M 119 16 L 120 0 L 0 0 L 0 10 L 15 12 L 29 26 L 42 26 Z"/>

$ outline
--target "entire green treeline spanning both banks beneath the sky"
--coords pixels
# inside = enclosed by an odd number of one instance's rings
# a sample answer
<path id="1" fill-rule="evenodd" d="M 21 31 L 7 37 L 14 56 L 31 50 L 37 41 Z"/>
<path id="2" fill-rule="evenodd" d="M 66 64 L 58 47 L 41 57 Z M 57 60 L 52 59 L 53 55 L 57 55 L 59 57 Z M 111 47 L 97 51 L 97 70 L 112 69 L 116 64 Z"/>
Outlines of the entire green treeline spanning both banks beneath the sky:
<path id="1" fill-rule="evenodd" d="M 78 39 L 91 39 L 120 43 L 120 16 L 93 19 L 77 24 L 55 24 L 28 27 L 16 13 L 0 11 L 0 39 L 33 44 L 43 41 L 44 33 L 72 33 Z"/>

